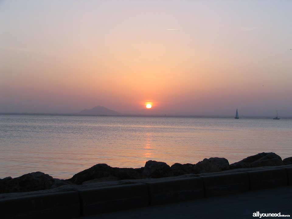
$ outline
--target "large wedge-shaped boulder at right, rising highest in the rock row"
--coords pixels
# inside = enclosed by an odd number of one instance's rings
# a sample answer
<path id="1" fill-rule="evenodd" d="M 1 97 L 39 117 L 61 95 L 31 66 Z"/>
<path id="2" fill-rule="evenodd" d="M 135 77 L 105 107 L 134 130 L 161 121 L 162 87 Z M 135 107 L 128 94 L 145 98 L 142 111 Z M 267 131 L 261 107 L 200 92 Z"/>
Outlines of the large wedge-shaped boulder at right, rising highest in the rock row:
<path id="1" fill-rule="evenodd" d="M 230 169 L 238 168 L 250 168 L 250 167 L 261 167 L 261 166 L 280 166 L 284 165 L 282 158 L 273 152 L 259 153 L 253 156 L 244 158 L 243 160 L 230 164 Z"/>

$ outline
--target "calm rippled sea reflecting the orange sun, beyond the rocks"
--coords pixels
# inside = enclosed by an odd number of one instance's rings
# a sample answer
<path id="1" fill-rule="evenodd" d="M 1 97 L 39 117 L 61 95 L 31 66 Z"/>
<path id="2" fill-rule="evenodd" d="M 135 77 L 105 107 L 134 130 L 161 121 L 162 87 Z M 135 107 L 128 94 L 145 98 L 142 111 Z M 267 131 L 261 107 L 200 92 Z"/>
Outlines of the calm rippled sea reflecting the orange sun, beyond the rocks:
<path id="1" fill-rule="evenodd" d="M 0 178 L 41 171 L 68 179 L 97 163 L 230 163 L 259 152 L 292 156 L 292 120 L 115 116 L 0 116 Z"/>

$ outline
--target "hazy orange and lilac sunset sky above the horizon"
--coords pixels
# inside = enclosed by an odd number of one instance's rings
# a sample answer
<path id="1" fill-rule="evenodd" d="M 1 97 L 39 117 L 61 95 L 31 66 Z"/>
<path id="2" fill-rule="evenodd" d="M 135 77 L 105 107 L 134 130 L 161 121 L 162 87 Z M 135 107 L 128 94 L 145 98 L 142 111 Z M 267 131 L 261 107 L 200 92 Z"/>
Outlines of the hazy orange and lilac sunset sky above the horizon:
<path id="1" fill-rule="evenodd" d="M 0 112 L 292 116 L 291 9 L 0 0 Z"/>

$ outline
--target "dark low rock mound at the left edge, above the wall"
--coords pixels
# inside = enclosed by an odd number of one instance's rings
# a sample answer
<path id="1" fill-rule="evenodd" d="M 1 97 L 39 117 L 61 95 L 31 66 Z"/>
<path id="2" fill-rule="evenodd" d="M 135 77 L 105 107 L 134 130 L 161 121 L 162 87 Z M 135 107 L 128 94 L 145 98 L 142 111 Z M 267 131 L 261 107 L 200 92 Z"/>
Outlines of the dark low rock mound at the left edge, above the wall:
<path id="1" fill-rule="evenodd" d="M 0 193 L 30 192 L 67 185 L 64 180 L 54 179 L 43 172 L 32 172 L 16 178 L 0 179 Z"/>

